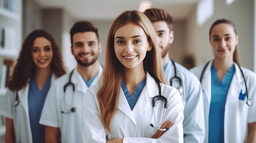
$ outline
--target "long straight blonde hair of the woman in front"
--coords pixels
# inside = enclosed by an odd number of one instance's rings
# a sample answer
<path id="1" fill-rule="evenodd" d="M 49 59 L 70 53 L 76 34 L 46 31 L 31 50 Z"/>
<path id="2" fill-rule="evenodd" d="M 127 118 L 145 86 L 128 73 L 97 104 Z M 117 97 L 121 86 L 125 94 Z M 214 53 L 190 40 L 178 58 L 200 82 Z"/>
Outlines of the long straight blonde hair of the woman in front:
<path id="1" fill-rule="evenodd" d="M 109 30 L 106 62 L 103 71 L 103 84 L 97 94 L 98 102 L 100 104 L 101 120 L 109 133 L 111 133 L 110 122 L 117 112 L 117 106 L 119 104 L 119 92 L 124 70 L 124 66 L 119 62 L 115 55 L 114 35 L 120 27 L 127 23 L 137 24 L 144 29 L 148 42 L 152 45 L 152 50 L 147 51 L 146 57 L 143 60 L 144 70 L 147 70 L 147 72 L 160 83 L 165 83 L 154 27 L 147 16 L 139 11 L 133 10 L 123 12 L 115 19 Z"/>

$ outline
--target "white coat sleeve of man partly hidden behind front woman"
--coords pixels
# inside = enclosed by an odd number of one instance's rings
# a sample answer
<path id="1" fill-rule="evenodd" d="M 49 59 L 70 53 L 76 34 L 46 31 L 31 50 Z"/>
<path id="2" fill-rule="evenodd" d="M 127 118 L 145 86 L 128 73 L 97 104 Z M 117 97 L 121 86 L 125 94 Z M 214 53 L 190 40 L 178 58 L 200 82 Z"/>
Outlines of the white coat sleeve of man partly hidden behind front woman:
<path id="1" fill-rule="evenodd" d="M 195 75 L 187 80 L 188 99 L 184 107 L 184 143 L 203 143 L 205 139 L 205 119 L 203 90 Z"/>

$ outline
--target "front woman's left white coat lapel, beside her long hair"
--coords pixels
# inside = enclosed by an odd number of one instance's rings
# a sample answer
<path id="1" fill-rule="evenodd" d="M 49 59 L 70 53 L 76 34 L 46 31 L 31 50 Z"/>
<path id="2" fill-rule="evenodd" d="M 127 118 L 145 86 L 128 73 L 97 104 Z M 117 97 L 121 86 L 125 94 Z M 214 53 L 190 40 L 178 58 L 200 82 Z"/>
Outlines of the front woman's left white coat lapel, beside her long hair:
<path id="1" fill-rule="evenodd" d="M 136 125 L 136 121 L 133 116 L 133 112 L 131 111 L 131 108 L 125 98 L 125 95 L 124 95 L 121 87 L 120 87 L 120 93 L 119 93 L 119 103 L 118 103 L 117 108 L 119 110 L 121 110 L 126 116 L 128 116 L 133 121 L 133 123 Z"/>

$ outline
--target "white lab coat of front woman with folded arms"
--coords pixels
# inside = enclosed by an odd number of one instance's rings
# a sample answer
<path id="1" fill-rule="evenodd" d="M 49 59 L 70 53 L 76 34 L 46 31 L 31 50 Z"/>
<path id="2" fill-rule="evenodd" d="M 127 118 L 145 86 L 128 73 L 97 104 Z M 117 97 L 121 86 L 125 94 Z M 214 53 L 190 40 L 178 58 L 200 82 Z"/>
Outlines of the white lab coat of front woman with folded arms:
<path id="1" fill-rule="evenodd" d="M 135 104 L 133 110 L 125 98 L 120 87 L 118 109 L 111 121 L 110 134 L 100 120 L 100 106 L 97 99 L 98 89 L 101 84 L 90 87 L 84 98 L 84 128 L 82 132 L 84 143 L 105 143 L 107 140 L 123 138 L 123 143 L 183 143 L 182 121 L 183 105 L 177 89 L 160 84 L 162 95 L 168 100 L 164 122 L 172 120 L 174 125 L 170 127 L 160 138 L 151 139 L 156 129 L 152 108 L 152 99 L 159 95 L 155 80 L 147 73 L 146 85 Z M 164 112 L 163 102 L 156 101 L 156 120 L 158 125 Z"/>

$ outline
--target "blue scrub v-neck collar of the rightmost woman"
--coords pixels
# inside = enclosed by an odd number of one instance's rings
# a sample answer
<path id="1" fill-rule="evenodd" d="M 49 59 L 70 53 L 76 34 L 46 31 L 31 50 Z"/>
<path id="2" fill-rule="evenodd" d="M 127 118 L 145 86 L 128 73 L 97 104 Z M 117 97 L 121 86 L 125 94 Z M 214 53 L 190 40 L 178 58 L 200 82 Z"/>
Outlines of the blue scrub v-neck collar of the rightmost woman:
<path id="1" fill-rule="evenodd" d="M 215 79 L 214 81 L 216 81 L 215 84 L 217 85 L 227 85 L 230 83 L 230 77 L 233 77 L 234 73 L 235 73 L 235 65 L 232 64 L 230 67 L 229 67 L 229 70 L 225 73 L 224 77 L 222 78 L 221 82 L 219 81 L 219 76 L 218 76 L 218 73 L 217 73 L 217 70 L 215 68 L 215 66 L 212 64 L 211 65 L 211 73 L 214 75 Z"/>

